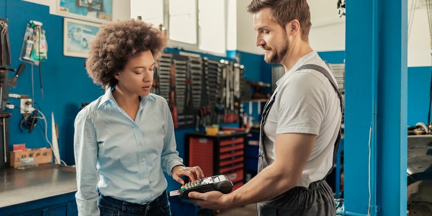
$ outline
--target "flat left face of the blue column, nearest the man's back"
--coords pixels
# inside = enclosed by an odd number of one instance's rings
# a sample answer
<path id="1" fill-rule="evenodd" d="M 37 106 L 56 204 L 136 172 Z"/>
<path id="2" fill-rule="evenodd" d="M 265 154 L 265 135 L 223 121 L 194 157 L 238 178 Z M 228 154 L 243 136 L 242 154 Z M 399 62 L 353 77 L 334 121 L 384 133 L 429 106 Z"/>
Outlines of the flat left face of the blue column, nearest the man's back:
<path id="1" fill-rule="evenodd" d="M 344 205 L 346 211 L 366 214 L 372 122 L 372 2 L 349 1 L 346 9 Z"/>

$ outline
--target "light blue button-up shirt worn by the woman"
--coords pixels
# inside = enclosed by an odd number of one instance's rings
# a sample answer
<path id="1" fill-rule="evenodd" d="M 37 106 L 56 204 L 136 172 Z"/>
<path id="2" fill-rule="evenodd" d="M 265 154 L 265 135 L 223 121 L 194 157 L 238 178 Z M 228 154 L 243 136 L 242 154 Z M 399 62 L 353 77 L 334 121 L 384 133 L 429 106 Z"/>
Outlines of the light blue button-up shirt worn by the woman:
<path id="1" fill-rule="evenodd" d="M 182 165 L 166 100 L 141 97 L 135 121 L 107 90 L 75 119 L 74 150 L 80 215 L 100 215 L 99 193 L 144 204 L 166 190 L 162 170 Z M 99 180 L 98 180 L 99 174 Z"/>

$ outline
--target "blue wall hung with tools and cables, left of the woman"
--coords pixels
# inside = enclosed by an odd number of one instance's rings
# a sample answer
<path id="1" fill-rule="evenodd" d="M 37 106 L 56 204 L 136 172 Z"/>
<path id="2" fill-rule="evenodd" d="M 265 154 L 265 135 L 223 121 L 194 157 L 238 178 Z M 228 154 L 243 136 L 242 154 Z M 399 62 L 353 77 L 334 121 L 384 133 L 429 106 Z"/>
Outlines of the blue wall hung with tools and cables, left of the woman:
<path id="1" fill-rule="evenodd" d="M 81 102 L 89 102 L 103 94 L 102 88 L 94 85 L 83 67 L 83 58 L 63 56 L 63 17 L 50 15 L 49 7 L 24 1 L 1 1 L 0 17 L 9 21 L 9 38 L 12 55 L 12 68 L 17 68 L 21 61 L 19 55 L 26 24 L 29 20 L 43 23 L 48 46 L 48 59 L 41 63 L 41 77 L 44 98 L 39 87 L 38 67 L 34 66 L 34 102 L 47 118 L 48 139 L 51 141 L 51 113 L 54 112 L 59 126 L 60 157 L 68 164 L 73 164 L 73 122 Z M 10 77 L 15 73 L 9 73 Z M 31 65 L 18 78 L 16 89 L 10 93 L 32 97 Z M 20 105 L 19 99 L 10 98 L 11 104 Z M 37 107 L 37 106 L 36 106 Z M 9 110 L 10 148 L 13 144 L 25 143 L 28 148 L 47 147 L 44 131 L 36 126 L 31 134 L 21 131 L 22 120 L 19 108 Z M 40 120 L 43 127 L 46 125 Z"/>

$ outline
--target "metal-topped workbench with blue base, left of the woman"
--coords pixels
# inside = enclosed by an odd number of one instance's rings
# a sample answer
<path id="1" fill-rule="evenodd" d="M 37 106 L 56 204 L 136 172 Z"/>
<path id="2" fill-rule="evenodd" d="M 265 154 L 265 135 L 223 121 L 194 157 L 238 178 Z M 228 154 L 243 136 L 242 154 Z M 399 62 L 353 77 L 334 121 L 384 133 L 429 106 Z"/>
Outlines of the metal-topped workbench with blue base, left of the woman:
<path id="1" fill-rule="evenodd" d="M 78 215 L 75 167 L 0 170 L 0 215 Z"/>

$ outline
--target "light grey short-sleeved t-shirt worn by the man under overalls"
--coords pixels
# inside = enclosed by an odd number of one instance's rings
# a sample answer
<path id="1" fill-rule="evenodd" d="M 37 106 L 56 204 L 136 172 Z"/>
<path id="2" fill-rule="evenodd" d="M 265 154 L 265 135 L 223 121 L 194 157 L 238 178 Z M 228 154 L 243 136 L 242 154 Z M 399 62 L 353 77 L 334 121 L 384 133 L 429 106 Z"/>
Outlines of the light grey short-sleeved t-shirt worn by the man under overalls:
<path id="1" fill-rule="evenodd" d="M 297 185 L 301 187 L 322 180 L 332 166 L 334 142 L 339 134 L 342 116 L 338 94 L 324 74 L 308 69 L 296 71 L 305 64 L 328 69 L 315 51 L 303 56 L 276 82 L 277 95 L 264 125 L 268 164 L 273 163 L 276 156 L 279 157 L 274 148 L 276 134 L 317 135 Z"/>

